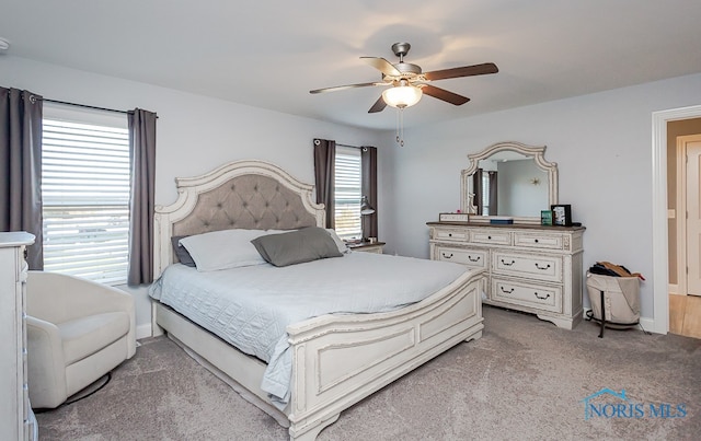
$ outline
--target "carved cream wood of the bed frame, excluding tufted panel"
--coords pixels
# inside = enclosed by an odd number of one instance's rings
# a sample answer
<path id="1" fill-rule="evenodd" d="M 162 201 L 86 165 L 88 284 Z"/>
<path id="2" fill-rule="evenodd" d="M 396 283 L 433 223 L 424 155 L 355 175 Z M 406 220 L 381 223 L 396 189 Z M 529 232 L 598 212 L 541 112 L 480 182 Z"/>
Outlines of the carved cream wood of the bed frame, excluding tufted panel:
<path id="1" fill-rule="evenodd" d="M 157 276 L 174 262 L 170 242 L 173 224 L 197 216 L 194 209 L 199 195 L 248 174 L 274 178 L 295 192 L 317 225 L 323 225 L 324 208 L 313 202 L 313 186 L 271 163 L 238 161 L 203 176 L 176 178 L 177 200 L 156 208 Z M 322 315 L 288 326 L 292 384 L 284 411 L 260 388 L 264 362 L 240 352 L 157 301 L 153 302 L 153 335 L 165 330 L 242 396 L 289 427 L 291 440 L 313 440 L 342 410 L 452 346 L 480 338 L 484 327 L 480 295 L 483 283 L 481 270 L 466 270 L 448 287 L 398 311 Z"/>

